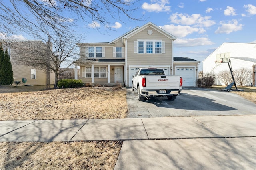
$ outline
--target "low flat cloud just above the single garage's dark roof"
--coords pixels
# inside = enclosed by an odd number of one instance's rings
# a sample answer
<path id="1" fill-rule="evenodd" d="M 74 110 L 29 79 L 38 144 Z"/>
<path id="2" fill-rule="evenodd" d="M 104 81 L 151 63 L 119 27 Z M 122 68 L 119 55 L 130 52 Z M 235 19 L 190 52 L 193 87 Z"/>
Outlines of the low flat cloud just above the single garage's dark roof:
<path id="1" fill-rule="evenodd" d="M 201 38 L 188 38 L 188 39 L 177 38 L 173 44 L 174 44 L 174 47 L 196 47 L 196 46 L 212 45 L 214 43 L 211 42 L 206 37 L 201 37 Z"/>

